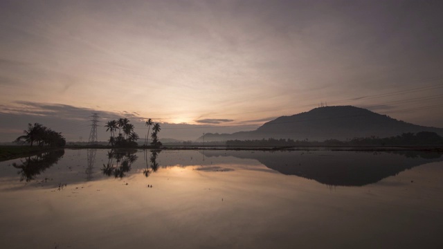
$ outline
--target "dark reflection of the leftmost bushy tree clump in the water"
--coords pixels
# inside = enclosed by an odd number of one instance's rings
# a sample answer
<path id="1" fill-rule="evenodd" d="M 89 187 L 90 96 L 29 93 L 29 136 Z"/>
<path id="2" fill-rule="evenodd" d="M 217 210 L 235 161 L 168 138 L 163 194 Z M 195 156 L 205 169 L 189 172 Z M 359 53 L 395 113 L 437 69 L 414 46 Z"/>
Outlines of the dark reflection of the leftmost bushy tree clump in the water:
<path id="1" fill-rule="evenodd" d="M 28 156 L 21 160 L 21 163 L 12 163 L 12 166 L 20 169 L 17 174 L 20 175 L 20 181 L 32 181 L 35 176 L 41 174 L 49 167 L 58 162 L 64 155 L 64 149 L 58 149 L 55 151 L 48 151 L 37 154 L 35 156 Z"/>

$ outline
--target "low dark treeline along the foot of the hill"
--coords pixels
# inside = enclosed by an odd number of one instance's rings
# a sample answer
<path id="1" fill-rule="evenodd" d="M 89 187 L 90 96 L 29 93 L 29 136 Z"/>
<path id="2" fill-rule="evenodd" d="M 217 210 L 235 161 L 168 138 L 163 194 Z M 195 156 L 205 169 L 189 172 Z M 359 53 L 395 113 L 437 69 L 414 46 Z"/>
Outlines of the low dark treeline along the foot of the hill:
<path id="1" fill-rule="evenodd" d="M 268 138 L 262 140 L 228 140 L 227 146 L 340 146 L 340 145 L 413 145 L 413 146 L 443 146 L 443 137 L 435 132 L 421 131 L 418 133 L 402 133 L 399 136 L 389 138 L 378 138 L 371 136 L 368 138 L 352 138 L 351 140 L 341 141 L 329 139 L 323 142 L 309 140 L 275 139 Z"/>

